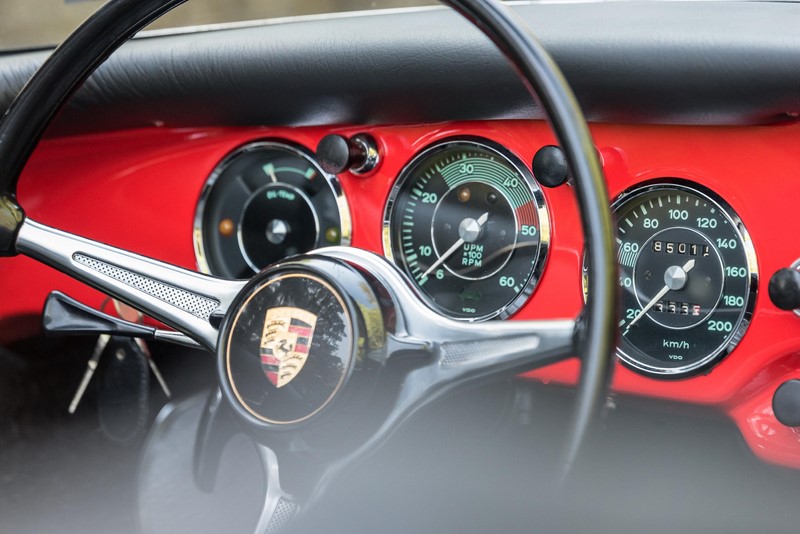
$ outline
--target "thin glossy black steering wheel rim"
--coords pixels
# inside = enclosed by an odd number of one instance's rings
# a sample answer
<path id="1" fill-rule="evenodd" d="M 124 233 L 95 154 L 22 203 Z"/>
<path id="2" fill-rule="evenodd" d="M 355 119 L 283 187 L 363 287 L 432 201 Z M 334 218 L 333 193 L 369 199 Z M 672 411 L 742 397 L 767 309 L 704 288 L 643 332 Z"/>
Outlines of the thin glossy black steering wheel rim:
<path id="1" fill-rule="evenodd" d="M 36 145 L 76 88 L 141 28 L 185 0 L 112 0 L 82 24 L 29 81 L 0 122 L 0 253 L 14 253 L 21 211 L 16 182 Z M 494 0 L 443 0 L 476 25 L 509 59 L 546 111 L 569 162 L 580 207 L 589 266 L 589 296 L 578 323 L 582 360 L 577 406 L 564 463 L 575 459 L 590 421 L 602 407 L 616 335 L 616 261 L 608 194 L 597 151 L 578 103 L 544 48 L 508 8 Z M 16 215 L 14 215 L 16 213 Z M 10 215 L 9 215 L 10 214 Z M 23 215 L 24 216 L 24 215 Z"/>

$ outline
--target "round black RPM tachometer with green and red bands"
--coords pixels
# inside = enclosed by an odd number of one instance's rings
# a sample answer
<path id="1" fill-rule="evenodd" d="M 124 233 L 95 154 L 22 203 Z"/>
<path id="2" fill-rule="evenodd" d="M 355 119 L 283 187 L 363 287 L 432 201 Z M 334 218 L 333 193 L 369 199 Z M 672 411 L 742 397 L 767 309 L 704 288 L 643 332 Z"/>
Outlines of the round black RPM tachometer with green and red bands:
<path id="1" fill-rule="evenodd" d="M 550 236 L 541 190 L 497 144 L 449 140 L 401 173 L 384 215 L 384 250 L 449 317 L 506 318 L 530 297 Z"/>

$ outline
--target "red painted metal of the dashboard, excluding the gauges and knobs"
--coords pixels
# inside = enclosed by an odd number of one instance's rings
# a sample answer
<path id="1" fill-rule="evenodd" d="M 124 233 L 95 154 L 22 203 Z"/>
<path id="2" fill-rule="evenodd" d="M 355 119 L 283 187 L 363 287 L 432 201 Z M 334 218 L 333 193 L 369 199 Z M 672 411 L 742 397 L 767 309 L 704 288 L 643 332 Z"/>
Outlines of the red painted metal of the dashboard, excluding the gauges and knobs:
<path id="1" fill-rule="evenodd" d="M 694 180 L 720 194 L 753 239 L 760 292 L 749 330 L 733 353 L 709 373 L 684 380 L 642 377 L 618 366 L 613 388 L 708 405 L 727 413 L 761 458 L 800 468 L 800 435 L 771 411 L 775 389 L 800 378 L 800 318 L 775 308 L 766 295 L 770 276 L 800 257 L 795 231 L 800 125 L 671 127 L 597 124 L 592 127 L 612 197 L 651 178 Z M 428 144 L 477 135 L 501 143 L 523 161 L 553 143 L 544 123 L 472 122 L 433 126 L 189 129 L 153 128 L 42 142 L 25 170 L 19 199 L 42 223 L 148 256 L 194 268 L 192 223 L 212 168 L 246 142 L 284 139 L 309 148 L 328 133 L 368 132 L 383 161 L 365 177 L 345 174 L 342 186 L 353 218 L 353 246 L 383 252 L 384 203 L 403 166 Z M 539 287 L 516 318 L 574 317 L 580 310 L 582 232 L 570 187 L 544 191 L 552 242 Z M 38 330 L 41 306 L 54 289 L 94 306 L 103 296 L 26 258 L 0 261 L 0 342 Z M 528 376 L 573 383 L 576 361 Z"/>

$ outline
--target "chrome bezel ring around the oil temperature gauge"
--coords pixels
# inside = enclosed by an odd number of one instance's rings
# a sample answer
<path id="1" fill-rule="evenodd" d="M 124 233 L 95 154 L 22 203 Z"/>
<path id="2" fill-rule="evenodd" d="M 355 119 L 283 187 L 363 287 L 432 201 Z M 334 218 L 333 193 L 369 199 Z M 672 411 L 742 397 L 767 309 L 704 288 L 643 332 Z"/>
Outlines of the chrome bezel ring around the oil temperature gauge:
<path id="1" fill-rule="evenodd" d="M 247 143 L 245 145 L 242 145 L 234 149 L 214 167 L 214 169 L 211 171 L 211 174 L 208 176 L 205 183 L 203 184 L 203 189 L 200 193 L 200 198 L 197 201 L 197 207 L 195 208 L 194 223 L 192 227 L 192 243 L 194 245 L 195 261 L 197 263 L 197 269 L 200 272 L 205 274 L 214 274 L 211 272 L 211 267 L 208 262 L 207 251 L 205 249 L 205 244 L 203 240 L 203 236 L 205 235 L 203 218 L 205 214 L 206 205 L 208 203 L 214 185 L 217 183 L 222 173 L 239 158 L 251 154 L 253 152 L 274 151 L 274 150 L 288 152 L 299 158 L 304 159 L 310 166 L 312 166 L 317 171 L 317 173 L 320 176 L 324 178 L 325 183 L 327 184 L 328 188 L 333 194 L 333 197 L 336 200 L 336 206 L 339 212 L 339 229 L 340 229 L 339 244 L 344 246 L 350 245 L 350 241 L 352 238 L 352 219 L 350 217 L 350 207 L 347 203 L 347 198 L 344 195 L 344 191 L 342 190 L 341 183 L 339 182 L 339 179 L 336 177 L 336 175 L 326 173 L 324 170 L 322 170 L 322 168 L 317 164 L 314 153 L 302 145 L 284 140 L 262 139 Z M 319 231 L 320 230 L 317 229 L 318 233 Z M 241 249 L 242 244 L 241 244 L 241 239 L 239 239 L 240 232 L 241 230 L 237 228 L 237 241 L 239 242 L 239 247 Z M 244 250 L 241 250 L 241 253 L 243 257 L 246 259 L 247 263 L 248 264 L 251 263 L 250 260 L 247 259 L 248 258 L 247 253 Z"/>

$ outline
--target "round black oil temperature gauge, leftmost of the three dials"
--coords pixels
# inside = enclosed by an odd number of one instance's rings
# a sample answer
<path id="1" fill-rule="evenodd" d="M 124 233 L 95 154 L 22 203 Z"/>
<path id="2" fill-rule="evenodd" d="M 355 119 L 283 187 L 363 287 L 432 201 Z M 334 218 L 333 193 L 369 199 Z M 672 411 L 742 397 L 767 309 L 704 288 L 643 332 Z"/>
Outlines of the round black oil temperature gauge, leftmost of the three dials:
<path id="1" fill-rule="evenodd" d="M 349 243 L 350 214 L 336 177 L 288 143 L 251 143 L 225 158 L 195 214 L 197 264 L 225 278 L 249 278 L 287 256 Z"/>

